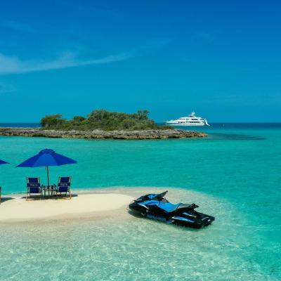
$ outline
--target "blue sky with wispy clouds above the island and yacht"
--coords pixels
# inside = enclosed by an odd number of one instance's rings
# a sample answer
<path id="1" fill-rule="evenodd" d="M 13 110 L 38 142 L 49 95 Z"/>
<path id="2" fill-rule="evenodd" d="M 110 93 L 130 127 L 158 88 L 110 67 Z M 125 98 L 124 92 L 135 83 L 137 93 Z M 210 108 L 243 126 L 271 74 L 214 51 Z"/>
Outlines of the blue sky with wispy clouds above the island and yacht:
<path id="1" fill-rule="evenodd" d="M 94 109 L 281 122 L 281 3 L 3 1 L 0 122 Z"/>

